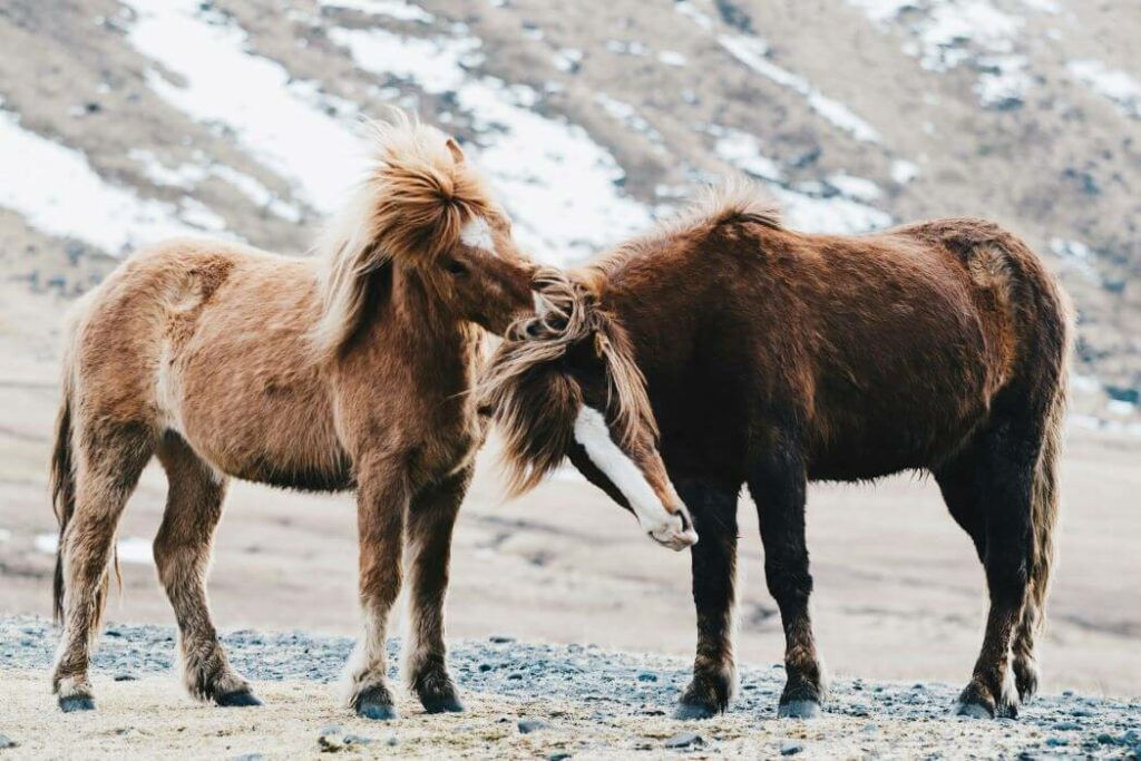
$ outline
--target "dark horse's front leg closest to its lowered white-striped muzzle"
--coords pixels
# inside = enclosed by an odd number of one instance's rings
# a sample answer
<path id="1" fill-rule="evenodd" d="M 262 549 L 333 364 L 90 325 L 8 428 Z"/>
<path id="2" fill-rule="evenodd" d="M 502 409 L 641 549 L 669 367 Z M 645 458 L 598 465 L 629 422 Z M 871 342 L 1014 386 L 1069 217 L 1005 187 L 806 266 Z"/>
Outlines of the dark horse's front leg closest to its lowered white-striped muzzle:
<path id="1" fill-rule="evenodd" d="M 737 576 L 737 491 L 709 481 L 674 481 L 701 541 L 690 548 L 697 656 L 677 719 L 709 719 L 729 707 L 737 667 L 733 639 Z"/>

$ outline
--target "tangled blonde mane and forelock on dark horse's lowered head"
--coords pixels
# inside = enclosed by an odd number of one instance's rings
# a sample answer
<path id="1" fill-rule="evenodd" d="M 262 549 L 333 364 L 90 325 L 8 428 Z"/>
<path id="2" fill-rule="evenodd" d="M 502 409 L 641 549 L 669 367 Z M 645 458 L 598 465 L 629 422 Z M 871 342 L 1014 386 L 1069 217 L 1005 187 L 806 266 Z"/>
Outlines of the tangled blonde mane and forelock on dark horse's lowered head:
<path id="1" fill-rule="evenodd" d="M 559 361 L 581 341 L 592 342 L 606 367 L 609 415 L 618 438 L 629 446 L 646 428 L 657 437 L 630 339 L 594 293 L 566 273 L 544 267 L 535 276 L 535 298 L 542 302 L 541 315 L 511 326 L 478 388 L 480 407 L 491 411 L 503 434 L 502 459 L 512 496 L 535 487 L 570 448 L 582 391 Z"/>

